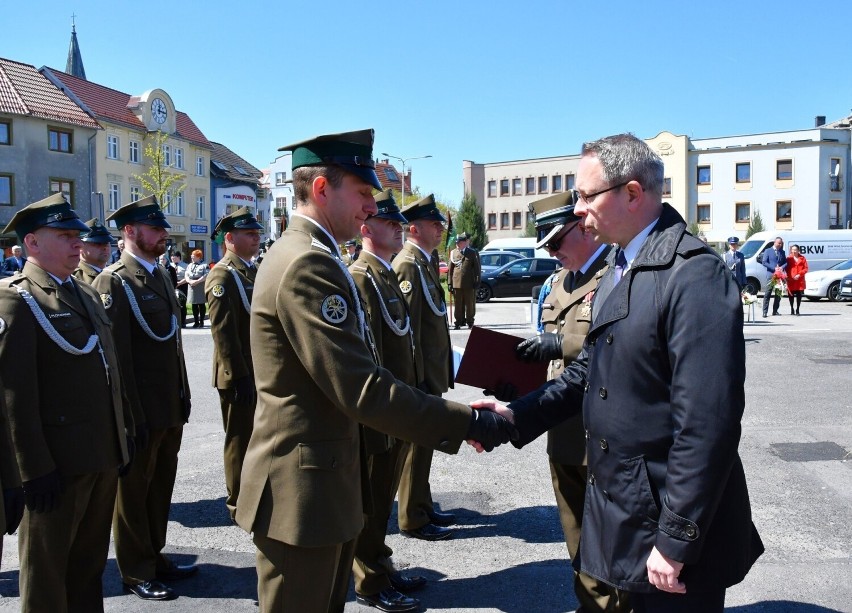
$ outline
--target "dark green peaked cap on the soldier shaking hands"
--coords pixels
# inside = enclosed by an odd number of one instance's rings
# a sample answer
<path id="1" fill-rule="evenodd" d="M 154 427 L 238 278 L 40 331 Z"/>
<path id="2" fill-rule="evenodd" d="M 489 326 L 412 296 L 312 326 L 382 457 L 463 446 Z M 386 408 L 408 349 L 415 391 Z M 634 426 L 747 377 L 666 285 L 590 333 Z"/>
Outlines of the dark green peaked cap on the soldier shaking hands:
<path id="1" fill-rule="evenodd" d="M 376 189 L 382 189 L 373 160 L 374 134 L 372 129 L 324 134 L 285 145 L 278 151 L 293 152 L 293 170 L 303 166 L 337 165 Z"/>

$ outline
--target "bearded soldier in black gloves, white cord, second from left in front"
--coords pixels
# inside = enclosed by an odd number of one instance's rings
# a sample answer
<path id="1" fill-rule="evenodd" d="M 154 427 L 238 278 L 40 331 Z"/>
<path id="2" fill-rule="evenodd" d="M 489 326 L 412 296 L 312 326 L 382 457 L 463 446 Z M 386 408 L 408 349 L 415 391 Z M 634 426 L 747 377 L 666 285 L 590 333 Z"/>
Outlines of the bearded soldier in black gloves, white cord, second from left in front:
<path id="1" fill-rule="evenodd" d="M 115 557 L 125 590 L 143 600 L 168 600 L 175 593 L 162 581 L 198 570 L 162 553 L 190 410 L 178 303 L 168 273 L 156 263 L 170 226 L 154 196 L 121 207 L 110 220 L 122 232 L 124 251 L 93 285 L 112 320 L 139 440 L 137 461 L 118 487 Z"/>

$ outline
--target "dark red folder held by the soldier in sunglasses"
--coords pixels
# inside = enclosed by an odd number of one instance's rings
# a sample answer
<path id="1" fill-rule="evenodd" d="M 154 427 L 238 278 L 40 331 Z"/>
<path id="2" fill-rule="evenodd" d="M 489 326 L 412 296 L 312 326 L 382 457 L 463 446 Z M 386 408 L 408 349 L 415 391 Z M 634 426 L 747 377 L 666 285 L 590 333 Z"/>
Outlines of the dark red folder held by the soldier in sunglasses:
<path id="1" fill-rule="evenodd" d="M 494 390 L 511 383 L 523 396 L 547 381 L 548 362 L 521 362 L 515 347 L 524 339 L 519 336 L 474 326 L 464 348 L 456 382 Z"/>

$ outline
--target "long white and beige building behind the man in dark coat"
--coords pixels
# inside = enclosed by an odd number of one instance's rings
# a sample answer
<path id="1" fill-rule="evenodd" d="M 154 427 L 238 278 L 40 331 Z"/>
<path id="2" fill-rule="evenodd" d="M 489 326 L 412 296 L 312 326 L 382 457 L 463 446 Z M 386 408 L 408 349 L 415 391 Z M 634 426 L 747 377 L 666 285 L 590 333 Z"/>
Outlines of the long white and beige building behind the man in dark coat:
<path id="1" fill-rule="evenodd" d="M 756 214 L 770 231 L 852 227 L 849 129 L 706 139 L 661 132 L 646 142 L 665 165 L 663 200 L 708 243 L 744 238 Z M 529 203 L 572 189 L 579 160 L 464 161 L 465 193 L 483 208 L 488 239 L 523 236 Z"/>

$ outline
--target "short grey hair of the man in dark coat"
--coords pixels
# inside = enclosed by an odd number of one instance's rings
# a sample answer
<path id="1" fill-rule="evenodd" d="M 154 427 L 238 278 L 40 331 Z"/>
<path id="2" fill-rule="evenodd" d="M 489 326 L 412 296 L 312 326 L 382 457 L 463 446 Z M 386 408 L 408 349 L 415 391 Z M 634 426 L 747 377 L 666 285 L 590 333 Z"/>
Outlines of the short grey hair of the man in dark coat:
<path id="1" fill-rule="evenodd" d="M 646 191 L 662 196 L 663 160 L 633 134 L 615 134 L 583 143 L 582 155 L 594 155 L 600 160 L 603 178 L 609 185 L 635 180 Z"/>

